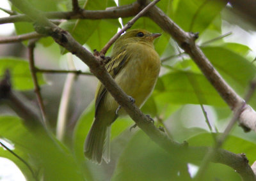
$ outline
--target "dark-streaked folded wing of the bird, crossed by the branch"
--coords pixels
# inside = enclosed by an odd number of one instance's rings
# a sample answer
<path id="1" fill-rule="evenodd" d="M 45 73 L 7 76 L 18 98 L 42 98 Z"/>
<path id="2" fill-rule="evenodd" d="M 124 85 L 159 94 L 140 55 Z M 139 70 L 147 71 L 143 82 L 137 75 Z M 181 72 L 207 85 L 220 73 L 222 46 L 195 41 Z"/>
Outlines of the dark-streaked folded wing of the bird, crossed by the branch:
<path id="1" fill-rule="evenodd" d="M 122 51 L 120 54 L 118 54 L 116 57 L 112 57 L 111 61 L 106 64 L 106 69 L 108 73 L 115 78 L 115 76 L 118 74 L 120 69 L 124 67 L 124 65 L 127 63 L 129 59 L 129 56 L 127 55 L 126 50 Z M 106 94 L 106 88 L 104 85 L 102 85 L 101 82 L 99 82 L 97 87 L 97 94 L 95 95 L 95 116 L 97 115 L 97 110 L 100 105 L 100 101 L 104 98 L 104 95 Z"/>

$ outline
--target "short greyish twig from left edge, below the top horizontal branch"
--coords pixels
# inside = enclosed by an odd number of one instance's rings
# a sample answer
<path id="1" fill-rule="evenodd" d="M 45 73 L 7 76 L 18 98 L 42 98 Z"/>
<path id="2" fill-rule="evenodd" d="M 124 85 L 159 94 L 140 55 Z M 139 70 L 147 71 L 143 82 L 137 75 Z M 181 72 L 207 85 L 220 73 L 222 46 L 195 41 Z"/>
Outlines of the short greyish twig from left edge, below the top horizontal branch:
<path id="1" fill-rule="evenodd" d="M 10 37 L 6 37 L 6 38 L 0 38 L 0 43 L 16 43 L 19 41 L 31 40 L 34 38 L 42 38 L 44 36 L 45 35 L 43 35 L 43 34 L 38 34 L 36 32 L 32 32 L 32 33 L 21 34 L 18 36 L 10 36 Z"/>

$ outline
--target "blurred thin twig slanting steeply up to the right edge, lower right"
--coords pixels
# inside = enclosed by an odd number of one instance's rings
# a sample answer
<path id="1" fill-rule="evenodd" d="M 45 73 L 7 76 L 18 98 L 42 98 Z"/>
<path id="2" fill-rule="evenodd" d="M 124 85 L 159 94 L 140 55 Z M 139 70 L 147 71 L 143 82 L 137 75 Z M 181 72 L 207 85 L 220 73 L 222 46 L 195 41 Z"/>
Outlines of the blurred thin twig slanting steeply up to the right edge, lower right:
<path id="1" fill-rule="evenodd" d="M 252 94 L 255 91 L 255 88 L 256 88 L 256 79 L 252 81 L 250 89 L 248 90 L 248 92 L 246 93 L 246 96 L 244 97 L 244 103 L 242 103 L 239 106 L 239 108 L 237 108 L 237 110 L 234 112 L 232 119 L 230 119 L 230 121 L 228 122 L 228 126 L 226 127 L 223 134 L 221 134 L 220 138 L 216 140 L 214 147 L 211 148 L 209 152 L 207 152 L 207 154 L 205 155 L 202 161 L 202 164 L 200 165 L 200 168 L 198 170 L 198 173 L 196 174 L 196 180 L 202 180 L 202 178 L 204 177 L 205 170 L 207 170 L 207 167 L 212 157 L 214 156 L 214 152 L 216 152 L 216 150 L 218 150 L 218 148 L 220 148 L 221 145 L 224 143 L 224 141 L 227 139 L 228 134 L 234 127 L 236 121 L 239 119 L 241 112 L 243 112 L 246 102 L 248 102 L 252 97 Z"/>

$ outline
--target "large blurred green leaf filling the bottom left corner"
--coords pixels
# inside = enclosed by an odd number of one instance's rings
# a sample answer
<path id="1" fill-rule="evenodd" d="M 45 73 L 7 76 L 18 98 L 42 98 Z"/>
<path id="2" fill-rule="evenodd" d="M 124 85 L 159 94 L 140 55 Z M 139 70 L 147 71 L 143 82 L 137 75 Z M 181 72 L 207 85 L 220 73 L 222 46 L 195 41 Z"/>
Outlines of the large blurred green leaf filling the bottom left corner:
<path id="1" fill-rule="evenodd" d="M 22 158 L 44 173 L 45 180 L 84 180 L 71 152 L 43 127 L 28 129 L 17 117 L 0 117 L 0 124 L 0 136 L 12 141 L 13 151 L 26 155 Z"/>

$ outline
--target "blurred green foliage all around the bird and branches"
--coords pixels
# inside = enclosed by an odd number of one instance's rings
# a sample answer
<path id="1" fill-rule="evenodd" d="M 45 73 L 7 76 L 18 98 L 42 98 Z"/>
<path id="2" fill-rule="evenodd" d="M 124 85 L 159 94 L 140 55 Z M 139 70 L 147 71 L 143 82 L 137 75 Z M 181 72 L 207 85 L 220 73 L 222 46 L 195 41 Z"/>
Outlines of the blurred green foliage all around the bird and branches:
<path id="1" fill-rule="evenodd" d="M 29 0 L 29 2 L 42 11 L 67 11 L 71 10 L 72 7 L 71 1 L 64 0 Z M 118 1 L 119 5 L 133 2 L 133 0 Z M 86 10 L 104 10 L 110 6 L 116 6 L 113 0 L 81 0 L 79 4 Z M 175 23 L 180 25 L 184 31 L 200 33 L 197 42 L 202 44 L 204 54 L 221 76 L 240 96 L 243 96 L 248 83 L 255 76 L 255 64 L 252 63 L 252 57 L 248 56 L 248 52 L 251 51 L 250 48 L 239 43 L 227 43 L 225 40 L 202 43 L 221 36 L 221 22 L 223 20 L 221 11 L 225 11 L 225 4 L 203 0 L 173 0 L 160 1 L 157 6 L 173 18 Z M 15 7 L 12 9 L 17 10 Z M 123 24 L 130 19 L 131 17 L 122 18 Z M 79 43 L 91 50 L 100 50 L 118 31 L 121 24 L 117 19 L 67 20 L 62 22 L 60 27 L 68 30 Z M 161 59 L 165 60 L 162 63 L 161 75 L 156 88 L 141 110 L 154 117 L 154 120 L 158 120 L 155 123 L 157 126 L 164 124 L 165 129 L 170 129 L 169 131 L 176 140 L 180 142 L 187 140 L 193 146 L 211 146 L 214 141 L 212 141 L 212 134 L 209 133 L 207 124 L 202 121 L 204 120 L 202 112 L 191 113 L 198 120 L 189 123 L 188 120 L 191 115 L 186 115 L 189 113 L 184 109 L 188 105 L 194 108 L 198 108 L 200 104 L 208 105 L 208 111 L 213 114 L 213 116 L 209 115 L 212 126 L 222 131 L 223 125 L 226 124 L 231 113 L 227 105 L 189 57 L 183 54 L 175 56 L 180 54 L 177 45 L 152 20 L 141 17 L 132 28 L 136 27 L 163 34 L 156 40 L 155 47 Z M 33 25 L 28 22 L 15 23 L 15 31 L 16 34 L 29 33 L 33 31 Z M 49 46 L 57 46 L 51 38 L 42 38 L 38 43 L 44 46 L 48 54 L 52 54 L 49 53 L 50 51 L 56 54 L 56 48 L 47 49 Z M 24 45 L 26 44 L 27 42 L 24 42 Z M 41 47 L 41 49 L 44 48 Z M 59 48 L 58 51 L 60 54 L 67 53 L 62 48 Z M 56 61 L 61 64 L 61 58 Z M 12 73 L 13 89 L 15 91 L 27 91 L 25 94 L 30 95 L 31 92 L 28 90 L 33 89 L 33 81 L 28 62 L 19 57 L 0 57 L 1 76 L 3 76 L 6 68 L 10 69 Z M 51 82 L 49 81 L 51 77 L 45 77 L 44 80 L 42 74 L 37 73 L 43 91 L 45 87 L 51 89 L 52 86 L 47 85 Z M 82 81 L 81 79 L 77 80 L 80 83 L 79 89 L 89 92 L 87 90 L 89 89 L 88 85 L 84 85 L 81 83 Z M 80 101 L 87 98 L 81 94 L 76 96 L 79 97 L 77 100 Z M 255 99 L 255 96 L 252 99 Z M 86 102 L 91 100 L 92 98 L 88 98 Z M 48 106 L 49 109 L 56 110 L 55 113 L 58 111 L 58 108 Z M 252 103 L 251 106 L 255 109 L 256 103 Z M 70 104 L 70 109 L 76 110 L 76 103 Z M 84 107 L 80 109 L 84 109 Z M 13 152 L 31 166 L 33 173 L 20 159 L 1 147 L 0 156 L 17 164 L 28 180 L 36 180 L 35 177 L 40 178 L 42 174 L 44 174 L 45 180 L 190 179 L 189 171 L 191 170 L 188 169 L 188 163 L 184 163 L 182 157 L 170 156 L 142 131 L 132 129 L 130 132 L 129 127 L 132 126 L 133 122 L 128 117 L 118 119 L 112 126 L 111 163 L 100 166 L 90 163 L 84 158 L 83 144 L 92 124 L 93 116 L 94 105 L 91 103 L 76 119 L 76 127 L 74 129 L 67 127 L 70 130 L 67 130 L 67 138 L 62 143 L 56 139 L 54 134 L 45 131 L 42 126 L 35 127 L 35 130 L 31 131 L 18 117 L 1 115 L 0 138 L 14 145 Z M 55 122 L 52 125 L 52 129 L 55 129 Z M 234 131 L 232 134 L 236 134 L 236 136 L 230 135 L 223 148 L 237 154 L 244 152 L 250 163 L 253 163 L 256 159 L 255 135 L 248 136 L 241 131 Z M 200 166 L 199 161 L 193 164 Z M 211 164 L 206 174 L 208 180 L 240 179 L 234 170 L 219 164 Z"/>

